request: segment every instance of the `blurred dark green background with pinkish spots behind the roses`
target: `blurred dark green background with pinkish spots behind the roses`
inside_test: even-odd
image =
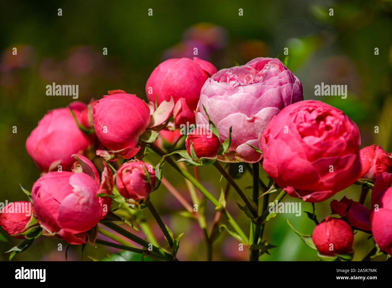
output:
[[[62,16],[58,16],[58,8]],[[148,16],[152,8],[153,16]],[[239,16],[239,9],[243,16]],[[329,9],[334,15],[329,16]],[[301,80],[305,99],[322,100],[343,110],[361,131],[362,145],[373,143],[392,152],[392,2],[390,0],[348,1],[9,1],[0,17],[0,201],[24,200],[19,184],[30,190],[40,171],[25,150],[25,140],[47,110],[64,107],[71,96],[46,96],[45,86],[79,85],[79,101],[99,99],[107,90],[123,89],[146,100],[145,83],[160,62],[173,57],[210,60],[218,69],[244,64],[258,56],[284,61]],[[17,56],[12,48],[18,50]],[[103,55],[106,47],[108,55]],[[375,55],[374,49],[379,49]],[[315,96],[314,86],[343,84],[347,99]],[[224,108],[222,108],[224,109]],[[17,133],[12,132],[13,126]],[[379,133],[374,133],[374,127]],[[151,163],[158,158],[147,156]],[[226,183],[214,167],[201,167],[200,178],[216,197]],[[169,165],[163,170],[169,181],[189,198],[183,179]],[[267,181],[264,172],[261,172]],[[251,195],[252,179],[243,173],[238,184]],[[332,199],[344,195],[359,199],[360,186],[353,185]],[[270,196],[273,199],[276,195]],[[181,205],[163,185],[151,199],[175,235],[185,232],[180,243],[180,260],[205,260],[206,248],[197,221],[181,216]],[[249,233],[249,219],[230,190],[227,209]],[[285,197],[285,201],[299,201]],[[321,220],[330,214],[330,201],[316,203]],[[303,211],[311,211],[310,203]],[[365,203],[369,205],[369,197]],[[211,229],[215,211],[207,205]],[[158,225],[145,213],[158,241],[163,245]],[[305,213],[278,214],[266,225],[265,239],[278,248],[263,255],[263,261],[317,260],[309,248],[287,225],[311,234],[314,223]],[[225,219],[223,219],[223,223]],[[0,233],[5,235],[3,231]],[[141,237],[144,237],[142,232]],[[8,260],[6,250],[19,240],[5,235],[0,242],[0,260]],[[355,236],[354,260],[361,260],[372,248],[368,234]],[[63,251],[58,251],[62,243]],[[40,237],[15,260],[65,260],[66,243]],[[104,259],[117,252],[103,246],[87,245],[83,260]],[[131,255],[133,256],[133,255]],[[80,260],[80,246],[71,246],[68,259]],[[113,257],[112,257],[113,258]],[[126,257],[125,257],[126,258]],[[114,258],[113,258],[114,259]],[[222,232],[213,247],[214,260],[247,260],[248,251],[238,251],[238,242]]]

